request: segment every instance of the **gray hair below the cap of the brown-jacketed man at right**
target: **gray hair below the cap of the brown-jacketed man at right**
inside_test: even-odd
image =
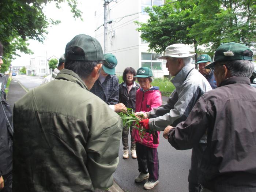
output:
[[[230,75],[236,77],[250,78],[254,69],[253,62],[249,60],[220,61],[218,63],[225,65]]]

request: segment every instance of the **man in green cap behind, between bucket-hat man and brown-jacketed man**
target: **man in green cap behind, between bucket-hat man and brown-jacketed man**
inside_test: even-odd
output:
[[[214,78],[213,70],[205,68],[212,62],[211,57],[208,54],[202,54],[197,58],[197,63],[199,67],[199,72],[207,79],[210,83],[211,88],[215,89],[217,87]]]

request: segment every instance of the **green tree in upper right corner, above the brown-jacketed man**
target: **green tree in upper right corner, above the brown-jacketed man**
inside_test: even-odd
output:
[[[197,42],[206,45],[209,51],[227,42],[255,48],[256,1],[203,0],[194,6],[192,16],[199,22],[188,29],[189,36],[196,37]]]

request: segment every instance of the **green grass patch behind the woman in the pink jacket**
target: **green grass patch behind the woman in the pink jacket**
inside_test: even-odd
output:
[[[123,82],[123,76],[117,76],[119,79],[119,83]],[[153,86],[159,87],[160,92],[162,95],[169,97],[170,94],[173,92],[175,89],[174,85],[172,82],[169,81],[168,78],[156,78],[152,82]]]

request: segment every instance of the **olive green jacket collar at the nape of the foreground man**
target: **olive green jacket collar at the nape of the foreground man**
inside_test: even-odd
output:
[[[86,84],[83,82],[83,80],[76,74],[74,71],[71,71],[69,69],[62,69],[55,79],[64,79],[71,82],[74,82],[76,84],[79,84],[82,88],[88,90]]]

